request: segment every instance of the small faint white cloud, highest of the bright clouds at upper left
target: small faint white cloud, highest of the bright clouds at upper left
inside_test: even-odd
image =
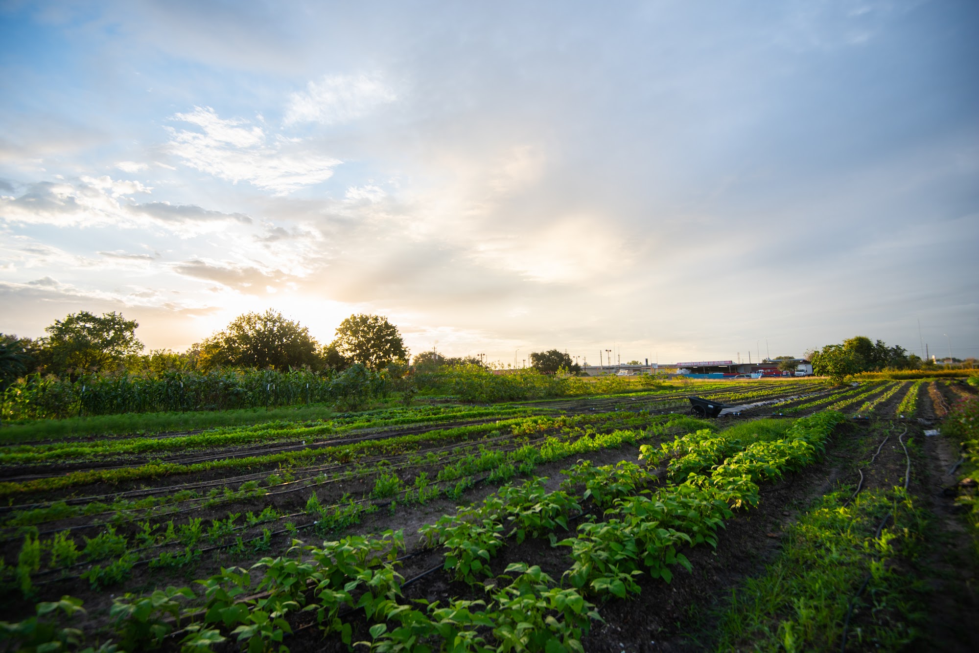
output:
[[[293,93],[286,108],[286,124],[350,122],[397,96],[381,79],[359,75],[326,75],[310,81],[304,92]]]

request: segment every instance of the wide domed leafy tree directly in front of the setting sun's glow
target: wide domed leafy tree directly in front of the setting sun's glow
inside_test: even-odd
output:
[[[309,330],[278,311],[246,313],[200,344],[198,365],[211,368],[289,368],[314,366],[318,343]]]

